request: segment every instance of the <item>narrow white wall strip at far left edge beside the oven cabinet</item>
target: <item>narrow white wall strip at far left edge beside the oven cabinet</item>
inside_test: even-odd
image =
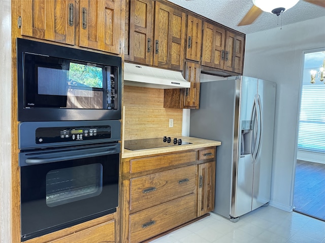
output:
[[[0,0],[0,242],[11,240],[11,2]]]

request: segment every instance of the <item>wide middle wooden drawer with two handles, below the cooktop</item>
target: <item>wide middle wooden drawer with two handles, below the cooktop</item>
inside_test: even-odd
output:
[[[196,166],[131,179],[130,211],[138,212],[193,193]]]

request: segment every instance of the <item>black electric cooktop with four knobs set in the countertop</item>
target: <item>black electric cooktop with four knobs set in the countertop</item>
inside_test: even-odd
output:
[[[191,143],[182,141],[181,139],[178,138],[171,138],[171,137],[146,138],[146,139],[125,140],[124,148],[129,150],[139,150],[139,149],[148,149],[148,148],[179,146],[185,144],[191,144]]]

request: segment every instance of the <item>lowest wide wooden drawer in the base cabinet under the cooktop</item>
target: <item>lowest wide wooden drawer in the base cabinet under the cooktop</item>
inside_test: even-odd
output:
[[[196,218],[194,193],[130,215],[130,242],[140,242]]]

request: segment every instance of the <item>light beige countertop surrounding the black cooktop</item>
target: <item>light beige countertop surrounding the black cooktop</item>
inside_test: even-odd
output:
[[[221,145],[220,141],[214,141],[214,140],[208,140],[202,138],[192,138],[192,137],[183,137],[183,136],[177,138],[181,138],[182,141],[189,142],[191,144],[184,144],[181,146],[161,147],[161,148],[140,149],[140,150],[122,149],[122,158],[129,158],[129,157],[150,155],[150,154],[157,154],[157,153],[168,153],[168,152],[183,151],[188,149]]]

